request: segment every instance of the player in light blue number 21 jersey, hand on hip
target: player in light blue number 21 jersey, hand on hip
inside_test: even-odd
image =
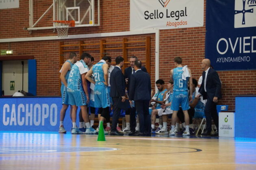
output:
[[[102,108],[100,122],[109,116],[110,94],[108,93],[108,62],[111,62],[109,56],[104,56],[100,62],[95,64],[86,74],[86,79],[95,84],[94,87],[94,105]],[[94,80],[91,78],[94,76]],[[100,126],[100,123],[99,123]]]

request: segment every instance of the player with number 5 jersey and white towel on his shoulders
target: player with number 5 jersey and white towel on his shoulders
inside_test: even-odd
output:
[[[91,134],[95,133],[95,130],[91,127],[89,123],[89,117],[87,114],[87,104],[89,103],[89,94],[87,89],[87,83],[85,79],[85,74],[88,72],[88,66],[84,62],[76,62],[72,66],[69,78],[67,81],[67,92],[69,94],[69,104],[72,104],[72,134],[81,134],[82,132],[78,130],[76,126],[76,112],[77,106],[80,106],[82,111],[82,118],[85,121],[87,127],[85,133]],[[85,96],[86,95],[86,96]]]

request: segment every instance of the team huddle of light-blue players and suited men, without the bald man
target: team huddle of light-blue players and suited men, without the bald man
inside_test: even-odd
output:
[[[99,127],[96,130],[92,127],[96,108],[98,108],[99,126],[101,121],[106,121],[105,134],[111,132],[110,135],[119,136],[124,133],[130,136],[150,136],[151,133],[156,133],[189,136],[195,133],[192,124],[195,108],[204,107],[205,102],[198,95],[199,88],[197,81],[192,79],[191,70],[187,66],[182,66],[180,57],[174,59],[176,68],[170,72],[171,79],[167,82],[167,89],[164,88],[165,82],[159,79],[156,81],[158,91],[155,94],[151,90],[150,76],[146,68],[141,66],[141,62],[135,56],[130,57],[130,67],[125,69],[124,75],[121,72],[124,58],[120,56],[115,58],[115,67],[111,65],[109,56],[104,56],[94,65],[94,58],[89,53],[83,53],[80,58],[81,60],[78,61],[76,53],[70,53],[69,59],[60,70],[63,104],[60,133],[66,132],[63,120],[69,105],[72,134],[99,132]],[[137,80],[136,77],[139,76],[143,80]],[[140,83],[145,86],[144,94],[136,91]],[[150,95],[147,95],[148,93]],[[130,107],[124,110],[126,127],[123,130],[118,126],[121,112],[118,106],[119,98],[121,102],[125,103],[126,98],[130,102]],[[79,128],[76,125],[78,106],[80,106]],[[110,126],[111,106],[114,110],[112,127]],[[137,121],[136,113],[138,113]],[[155,129],[156,115],[159,116],[157,129]],[[167,128],[169,115],[171,115],[170,130]],[[182,130],[180,123],[183,126]]]

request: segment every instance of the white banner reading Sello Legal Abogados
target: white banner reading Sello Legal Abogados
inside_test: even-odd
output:
[[[204,0],[130,0],[130,30],[204,25]]]

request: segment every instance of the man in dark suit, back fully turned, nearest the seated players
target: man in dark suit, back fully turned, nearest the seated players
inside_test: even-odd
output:
[[[135,108],[139,115],[140,132],[135,136],[150,136],[151,121],[149,115],[149,102],[151,100],[150,75],[141,70],[141,62],[135,61],[135,73],[131,75],[129,100],[135,101]]]

